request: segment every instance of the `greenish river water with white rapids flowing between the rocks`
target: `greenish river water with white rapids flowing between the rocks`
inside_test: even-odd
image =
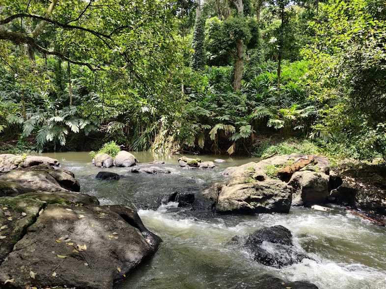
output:
[[[331,213],[293,207],[289,214],[222,216],[176,208],[175,203],[155,208],[157,198],[183,187],[207,188],[222,181],[223,169],[256,159],[222,158],[215,169],[182,169],[178,156],[135,153],[139,165],[163,160],[170,174],[148,175],[125,168],[100,169],[85,152],[44,154],[60,161],[101,204],[125,204],[138,209],[145,226],[163,239],[155,256],[140,265],[116,289],[230,289],[270,274],[289,281],[306,280],[319,289],[386,289],[386,229],[341,207]],[[202,160],[218,157],[199,156]],[[117,181],[95,179],[101,170],[122,175]],[[291,230],[298,251],[307,259],[276,269],[252,261],[242,244],[231,242],[264,226]],[[242,239],[241,238],[241,239]],[[269,248],[268,248],[269,249]]]

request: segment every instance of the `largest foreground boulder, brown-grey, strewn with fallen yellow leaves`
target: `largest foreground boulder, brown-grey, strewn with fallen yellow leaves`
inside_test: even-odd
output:
[[[7,283],[9,288],[65,284],[111,289],[114,281],[151,257],[161,242],[138,220],[137,213],[124,206],[49,205],[0,265],[0,283],[14,279]]]

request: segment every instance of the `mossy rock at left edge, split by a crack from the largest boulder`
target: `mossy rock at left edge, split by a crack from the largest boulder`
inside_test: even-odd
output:
[[[0,197],[0,264],[23,238],[44,205],[29,198]]]

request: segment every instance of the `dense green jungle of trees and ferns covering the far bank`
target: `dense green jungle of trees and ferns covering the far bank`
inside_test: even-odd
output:
[[[386,157],[385,0],[0,0],[0,43],[20,147]]]

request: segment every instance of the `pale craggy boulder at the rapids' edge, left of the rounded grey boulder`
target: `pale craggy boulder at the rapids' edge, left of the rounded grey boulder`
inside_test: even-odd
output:
[[[280,180],[267,179],[228,184],[221,188],[218,213],[288,213],[292,202],[292,187]]]

